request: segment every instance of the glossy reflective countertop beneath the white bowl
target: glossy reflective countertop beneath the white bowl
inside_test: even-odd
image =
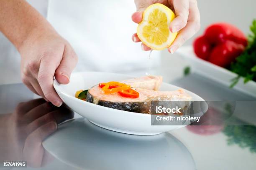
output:
[[[171,83],[208,101],[256,104],[255,98],[197,74]],[[244,115],[237,117],[243,125],[128,135],[100,128],[67,106],[35,99],[23,84],[0,85],[0,163],[26,161],[23,169],[29,170],[255,170],[256,116]]]

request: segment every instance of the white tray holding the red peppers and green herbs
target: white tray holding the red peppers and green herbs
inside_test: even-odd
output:
[[[230,86],[231,80],[237,77],[236,73],[198,58],[195,55],[192,46],[180,47],[179,50],[177,50],[177,53],[190,63],[192,71],[195,71],[204,77],[210,78],[211,80],[217,81],[222,85]],[[239,82],[233,88],[256,97],[256,82],[254,81],[249,81],[244,84],[243,78],[240,78]]]

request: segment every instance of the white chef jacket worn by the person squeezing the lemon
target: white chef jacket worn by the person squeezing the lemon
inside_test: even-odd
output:
[[[133,0],[28,0],[46,16],[57,32],[74,48],[79,61],[74,71],[134,72],[159,65],[159,51],[141,50],[131,35],[137,24]],[[20,56],[0,35],[0,83],[20,81]],[[2,43],[1,43],[2,44]],[[8,47],[6,47],[8,46]],[[5,51],[5,52],[2,52]],[[1,55],[0,54],[0,55]],[[6,72],[10,74],[6,75]]]

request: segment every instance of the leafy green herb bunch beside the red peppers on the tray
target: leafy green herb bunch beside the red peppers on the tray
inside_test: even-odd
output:
[[[250,27],[252,34],[248,35],[248,46],[246,50],[231,64],[230,70],[238,74],[232,81],[230,87],[234,87],[240,77],[244,77],[244,83],[256,81],[256,20]]]

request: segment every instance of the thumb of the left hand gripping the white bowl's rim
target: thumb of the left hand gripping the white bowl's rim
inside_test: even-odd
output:
[[[68,84],[71,72],[77,65],[77,55],[72,47],[67,44],[65,45],[62,60],[59,67],[55,71],[55,78],[61,84]]]

